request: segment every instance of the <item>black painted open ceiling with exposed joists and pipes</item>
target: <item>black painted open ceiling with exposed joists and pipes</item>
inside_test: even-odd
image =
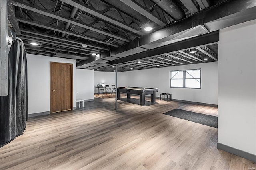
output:
[[[194,21],[187,25],[191,29],[179,32],[176,23],[217,8],[223,2],[226,1],[8,0],[8,19],[24,41],[27,53],[76,59],[77,68],[113,72],[111,61],[210,33],[210,27],[203,23],[193,25]],[[172,34],[169,25],[174,25],[177,33]],[[146,26],[153,30],[144,31]],[[157,33],[161,33],[161,39],[154,39]],[[124,62],[118,71],[212,61],[218,61],[217,42]]]

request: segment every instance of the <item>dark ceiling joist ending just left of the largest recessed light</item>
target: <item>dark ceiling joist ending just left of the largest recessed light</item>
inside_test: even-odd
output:
[[[130,25],[126,24],[126,23],[123,23],[123,22],[120,22],[118,20],[116,20],[115,18],[112,18],[106,14],[104,14],[103,12],[100,12],[100,11],[97,11],[93,8],[91,8],[90,6],[86,6],[85,4],[79,2],[79,1],[74,1],[74,0],[62,0],[63,2],[65,2],[66,4],[69,4],[71,6],[75,6],[76,8],[80,9],[80,10],[83,10],[89,14],[92,14],[93,16],[96,16],[102,20],[105,20],[107,22],[110,22],[114,25],[117,25],[118,27],[122,27],[128,31],[131,31],[133,33],[136,33],[140,36],[144,35],[144,33],[134,29],[133,27],[131,27]],[[124,40],[123,40],[124,41]],[[128,42],[128,41],[126,41]]]

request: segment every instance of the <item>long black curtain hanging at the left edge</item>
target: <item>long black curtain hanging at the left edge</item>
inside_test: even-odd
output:
[[[8,96],[0,96],[0,145],[24,132],[28,120],[27,59],[15,40],[8,55]]]

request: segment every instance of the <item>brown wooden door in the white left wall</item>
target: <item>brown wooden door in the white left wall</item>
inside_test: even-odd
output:
[[[50,62],[50,112],[73,108],[73,64]]]

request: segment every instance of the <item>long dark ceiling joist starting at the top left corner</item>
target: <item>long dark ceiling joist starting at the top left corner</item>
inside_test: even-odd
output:
[[[82,27],[84,29],[90,29],[90,30],[95,31],[97,33],[101,33],[101,34],[104,34],[104,35],[107,35],[107,36],[110,36],[110,37],[113,37],[113,38],[116,38],[116,39],[120,39],[120,40],[125,41],[125,42],[130,41],[130,40],[124,38],[124,37],[120,37],[116,34],[104,31],[102,29],[98,29],[96,27],[92,27],[92,26],[90,26],[86,23],[81,23],[80,21],[73,20],[71,18],[61,16],[60,14],[56,14],[54,12],[50,12],[50,11],[44,10],[42,8],[40,9],[39,7],[34,8],[34,6],[32,6],[30,4],[23,4],[21,2],[16,2],[16,1],[11,1],[11,4],[14,5],[14,6],[18,6],[20,8],[24,8],[26,10],[30,10],[32,12],[36,12],[38,14],[42,14],[44,16],[48,16],[48,17],[55,18],[55,19],[58,19],[58,20],[61,20],[61,21],[64,21],[64,22],[72,23],[72,24],[77,25],[79,27]]]

